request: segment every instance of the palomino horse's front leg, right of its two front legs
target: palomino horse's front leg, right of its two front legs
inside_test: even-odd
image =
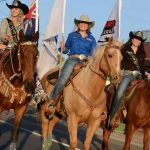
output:
[[[100,121],[101,119],[99,118],[97,120],[91,120],[90,123],[88,123],[88,127],[86,130],[86,139],[84,142],[84,150],[90,149],[92,138],[99,127]]]

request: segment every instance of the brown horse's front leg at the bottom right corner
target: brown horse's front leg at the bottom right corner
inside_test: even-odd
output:
[[[143,150],[149,150],[150,146],[150,128],[144,127]]]

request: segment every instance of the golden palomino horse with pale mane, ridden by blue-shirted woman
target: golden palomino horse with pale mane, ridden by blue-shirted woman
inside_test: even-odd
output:
[[[72,84],[67,85],[63,90],[71,150],[77,146],[79,123],[87,124],[84,149],[90,149],[92,137],[99,127],[106,108],[105,79],[107,77],[113,80],[120,79],[121,45],[120,42],[110,40],[107,45],[97,47],[88,65],[73,78]],[[49,94],[52,86],[47,84],[46,77],[43,78],[42,83]],[[41,107],[43,149],[48,149],[50,146],[48,140],[59,118],[53,117],[48,121],[44,115],[47,108],[46,104],[44,105]]]

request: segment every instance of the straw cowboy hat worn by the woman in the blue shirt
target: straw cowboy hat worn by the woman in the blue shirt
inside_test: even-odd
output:
[[[76,26],[78,26],[78,24],[81,23],[81,22],[88,23],[89,24],[89,29],[92,28],[95,24],[94,21],[90,21],[90,18],[87,15],[81,15],[80,19],[74,19],[74,23],[75,23]]]

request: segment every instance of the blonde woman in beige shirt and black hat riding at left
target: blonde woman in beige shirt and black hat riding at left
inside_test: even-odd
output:
[[[7,3],[6,5],[11,10],[11,15],[3,19],[0,25],[0,69],[2,69],[3,57],[6,55],[5,49],[18,44],[19,31],[23,29],[24,15],[29,11],[28,6],[18,0],[14,0],[12,5]]]

